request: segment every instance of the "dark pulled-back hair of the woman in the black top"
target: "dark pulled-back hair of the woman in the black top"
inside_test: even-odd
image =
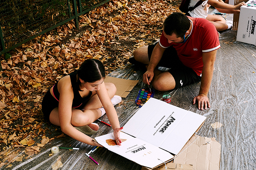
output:
[[[101,78],[105,78],[105,68],[100,60],[87,59],[85,60],[77,71],[78,81],[77,85],[81,84],[79,77],[84,82],[93,83]],[[79,88],[80,89],[80,88]]]

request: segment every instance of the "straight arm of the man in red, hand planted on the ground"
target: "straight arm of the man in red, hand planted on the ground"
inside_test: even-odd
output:
[[[203,108],[207,109],[207,106],[210,108],[209,98],[207,97],[211,81],[213,75],[214,62],[216,58],[217,50],[210,52],[203,52],[202,60],[203,60],[203,70],[201,77],[201,86],[198,96],[194,97],[193,105],[198,102],[198,109],[203,110]],[[203,107],[204,106],[204,107]]]

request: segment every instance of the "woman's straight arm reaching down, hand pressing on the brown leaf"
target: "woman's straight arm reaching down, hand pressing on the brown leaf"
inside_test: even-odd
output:
[[[116,109],[114,108],[114,106],[109,98],[109,95],[108,95],[108,92],[107,92],[104,82],[101,84],[100,90],[97,90],[96,93],[101,100],[101,103],[106,111],[108,120],[112,126],[112,129],[114,130],[114,136],[115,136],[116,143],[119,146],[121,146],[120,131],[123,129],[123,127],[120,128]]]

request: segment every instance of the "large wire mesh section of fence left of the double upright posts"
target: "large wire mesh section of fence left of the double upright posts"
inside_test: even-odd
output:
[[[69,18],[67,0],[9,0],[0,3],[5,48]]]

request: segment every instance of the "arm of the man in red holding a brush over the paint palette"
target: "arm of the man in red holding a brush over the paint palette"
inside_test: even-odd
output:
[[[143,83],[149,85],[150,82],[152,81],[152,79],[154,77],[154,69],[156,68],[156,65],[161,60],[164,51],[165,51],[165,48],[162,48],[159,45],[159,43],[154,47],[151,57],[150,57],[147,71],[143,74]]]

